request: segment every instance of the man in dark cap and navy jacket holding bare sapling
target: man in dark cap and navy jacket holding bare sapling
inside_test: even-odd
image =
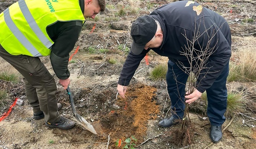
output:
[[[175,120],[183,118],[185,103],[194,102],[206,91],[207,116],[211,122],[210,138],[217,143],[222,138],[221,126],[225,122],[224,113],[227,109],[230,28],[225,19],[214,11],[203,8],[201,14],[196,14],[193,6],[199,4],[194,2],[185,6],[187,3],[188,1],[180,1],[161,6],[133,22],[131,51],[123,65],[117,90],[125,98],[127,86],[149,50],[168,57],[166,82],[173,113],[161,120],[159,126],[166,128],[176,124]],[[205,67],[200,71],[196,89],[185,96],[185,84],[189,76],[185,71],[190,67],[190,57],[182,52],[187,52],[184,49],[191,47],[190,42],[193,42],[196,34],[199,36],[193,44],[193,55],[202,50],[211,49],[212,52],[207,57]],[[196,60],[192,62],[193,68],[196,68],[194,62]]]

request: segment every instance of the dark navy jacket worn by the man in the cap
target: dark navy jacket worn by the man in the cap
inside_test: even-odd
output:
[[[198,3],[186,6],[188,1],[173,2],[154,10],[150,15],[154,17],[163,30],[164,40],[159,48],[151,48],[159,55],[166,56],[181,68],[190,67],[188,57],[182,52],[188,52],[186,48],[193,39],[194,49],[212,51],[206,62],[206,69],[201,70],[197,80],[197,89],[204,92],[212,86],[222,69],[229,62],[231,56],[231,34],[228,23],[219,14],[207,8],[199,16],[193,10]],[[197,35],[197,37],[196,37]],[[208,43],[209,48],[206,48]],[[196,51],[194,50],[194,51]],[[143,50],[140,55],[130,52],[123,65],[118,84],[127,86],[130,83],[139,63],[149,50]],[[197,54],[194,52],[193,54]],[[194,60],[193,66],[195,67]]]

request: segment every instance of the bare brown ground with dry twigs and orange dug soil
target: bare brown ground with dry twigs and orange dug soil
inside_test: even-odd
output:
[[[16,0],[0,0],[0,12]],[[26,101],[23,82],[12,83],[0,80],[0,89],[8,90],[9,98],[15,97],[24,100],[23,106],[15,106],[12,113],[0,122],[0,148],[3,149],[109,149],[115,147],[118,139],[124,141],[132,135],[138,139],[134,142],[138,149],[256,149],[256,90],[255,82],[228,82],[227,87],[234,92],[244,90],[243,102],[246,105],[245,113],[235,117],[227,117],[222,125],[224,130],[222,141],[211,144],[209,139],[209,120],[200,110],[202,102],[191,104],[190,119],[193,132],[190,132],[190,143],[177,143],[175,130],[160,128],[159,120],[170,115],[170,100],[167,95],[164,81],[151,81],[149,73],[159,63],[166,63],[167,58],[149,54],[149,65],[145,61],[137,69],[126,98],[117,95],[117,80],[126,57],[125,47],[130,47],[131,37],[129,30],[131,22],[138,16],[149,14],[152,10],[172,0],[151,1],[121,1],[109,0],[104,13],[99,14],[99,20],[88,20],[75,46],[79,51],[73,56],[69,64],[71,73],[70,88],[74,95],[77,113],[89,121],[97,131],[97,135],[76,124],[71,130],[50,129],[44,125],[44,120],[34,120],[32,108]],[[203,6],[217,11],[227,19],[232,30],[232,51],[251,49],[256,51],[256,2],[253,0],[210,0],[200,1]],[[125,8],[126,14],[118,16],[117,21],[107,21],[114,13],[118,13],[118,6]],[[138,9],[138,13],[131,13],[131,9]],[[254,23],[243,23],[242,19],[253,18]],[[92,27],[96,24],[95,30]],[[90,49],[109,49],[108,52],[92,52]],[[74,49],[74,51],[75,51]],[[73,53],[72,51],[71,53]],[[94,53],[94,54],[91,54]],[[234,54],[235,55],[235,54]],[[236,57],[232,57],[235,60]],[[117,63],[111,64],[110,59]],[[48,57],[42,57],[42,62],[58,82]],[[0,71],[17,73],[7,62],[0,59]],[[20,77],[21,78],[21,77]],[[63,108],[60,113],[70,119],[72,111],[65,90],[57,84],[56,94],[58,102]],[[11,103],[10,103],[11,104]],[[9,107],[2,108],[0,115]],[[196,112],[193,112],[196,111]],[[245,123],[246,122],[246,123]],[[148,141],[146,141],[149,139]],[[144,141],[146,143],[142,144]],[[139,146],[139,144],[142,144]],[[124,144],[122,144],[123,146]]]

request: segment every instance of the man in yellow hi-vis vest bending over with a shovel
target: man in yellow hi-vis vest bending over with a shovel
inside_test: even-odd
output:
[[[85,18],[105,10],[105,0],[19,0],[0,14],[0,56],[23,75],[34,119],[69,129],[75,122],[60,116],[53,76],[39,59],[50,55],[60,84],[67,89],[69,52],[75,46]]]

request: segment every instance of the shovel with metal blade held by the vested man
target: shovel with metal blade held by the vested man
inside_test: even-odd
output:
[[[94,133],[94,134],[97,134],[95,129],[92,127],[92,125],[87,122],[83,117],[81,117],[79,114],[76,113],[76,108],[75,108],[75,103],[74,103],[74,100],[73,100],[73,95],[72,95],[72,92],[68,86],[68,88],[66,89],[66,91],[68,92],[68,96],[69,96],[69,99],[70,99],[70,104],[71,104],[71,108],[72,108],[72,111],[73,111],[73,115],[75,117],[75,119],[83,126],[85,127],[87,130],[89,130],[90,132]]]

